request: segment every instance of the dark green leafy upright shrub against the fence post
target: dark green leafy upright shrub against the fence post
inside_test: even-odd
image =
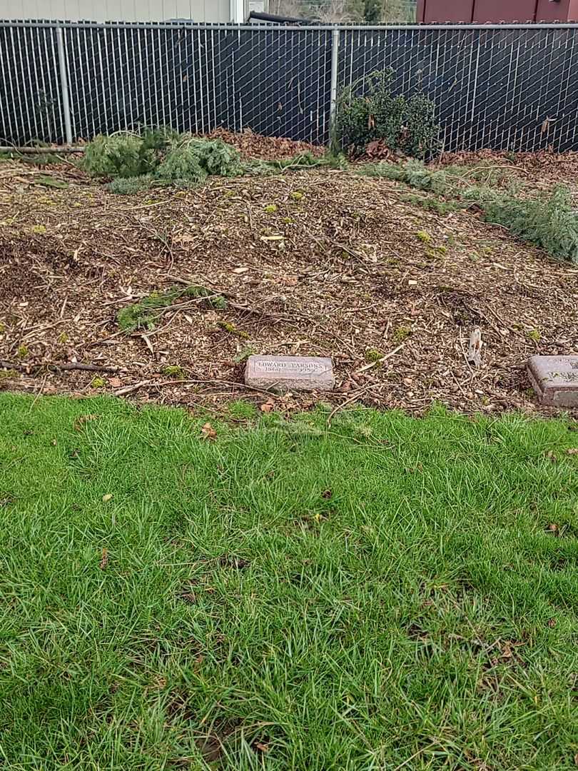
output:
[[[385,140],[390,150],[412,157],[433,157],[440,150],[435,105],[425,94],[391,93],[392,69],[371,72],[343,89],[338,99],[334,140],[353,155],[368,143]],[[361,87],[364,93],[359,93]]]

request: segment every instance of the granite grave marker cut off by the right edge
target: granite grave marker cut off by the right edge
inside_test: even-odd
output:
[[[532,356],[528,375],[540,404],[578,407],[578,356]]]

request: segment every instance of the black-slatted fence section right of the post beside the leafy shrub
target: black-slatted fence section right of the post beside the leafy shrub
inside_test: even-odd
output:
[[[349,30],[338,82],[391,67],[396,91],[434,100],[445,150],[576,150],[575,40],[536,26]]]

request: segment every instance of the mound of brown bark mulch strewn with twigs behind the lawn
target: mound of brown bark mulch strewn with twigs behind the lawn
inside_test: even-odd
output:
[[[237,138],[251,157],[279,157],[279,141]],[[70,164],[2,163],[0,388],[210,409],[243,397],[265,409],[323,399],[548,412],[524,367],[578,350],[578,271],[471,211],[440,217],[407,193],[315,169],[122,197]],[[227,307],[180,298],[155,328],[119,329],[122,308],[187,284]],[[479,368],[465,356],[476,326]],[[336,390],[251,391],[250,353],[332,356]]]

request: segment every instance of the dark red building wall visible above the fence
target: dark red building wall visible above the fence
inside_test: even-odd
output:
[[[578,0],[418,0],[418,22],[578,21]]]

